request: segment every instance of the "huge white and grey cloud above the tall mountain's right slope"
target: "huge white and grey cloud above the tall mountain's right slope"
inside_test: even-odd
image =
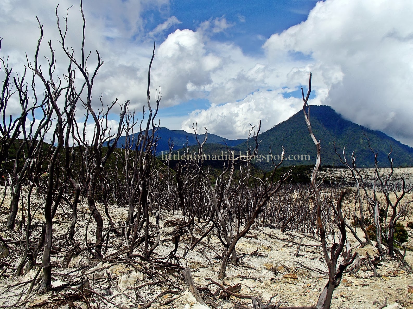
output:
[[[323,103],[344,117],[413,145],[413,3],[318,2],[307,20],[264,44],[269,59],[311,55],[314,76],[332,77]]]

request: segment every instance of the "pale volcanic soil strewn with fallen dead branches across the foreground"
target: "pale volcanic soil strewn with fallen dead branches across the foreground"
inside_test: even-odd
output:
[[[0,201],[3,196],[4,187],[0,187]],[[189,292],[183,281],[183,276],[179,271],[168,270],[167,267],[159,264],[150,264],[138,257],[134,257],[132,262],[116,259],[104,262],[91,260],[89,267],[81,267],[81,261],[86,257],[75,255],[69,263],[68,268],[62,268],[62,262],[67,248],[73,242],[67,239],[69,225],[71,221],[71,210],[69,206],[62,204],[53,219],[53,245],[52,255],[52,287],[55,291],[50,291],[44,295],[38,295],[36,288],[40,284],[36,281],[33,285],[33,292],[28,293],[28,289],[38,272],[38,267],[32,269],[24,276],[14,276],[12,269],[16,269],[24,251],[24,228],[18,226],[13,231],[8,231],[5,227],[7,220],[9,194],[6,194],[4,203],[0,208],[0,235],[11,248],[10,255],[2,256],[0,251],[0,308],[14,306],[18,304],[22,308],[144,308],[142,302],[152,301],[157,295],[166,291],[177,291],[176,293],[165,293],[157,297],[150,306],[151,308],[205,308],[197,304],[195,298]],[[33,225],[34,239],[36,233],[40,234],[43,219],[42,197],[32,197],[32,213],[36,211]],[[83,248],[85,243],[85,227],[90,217],[90,212],[85,203],[79,205],[78,225],[76,226],[76,240],[81,242]],[[104,216],[104,207],[98,205],[98,209],[104,217],[104,227],[108,226],[108,220]],[[111,206],[109,214],[112,216],[115,225],[126,219],[127,208]],[[21,208],[19,209],[18,220],[21,218]],[[152,258],[162,260],[174,248],[171,241],[171,234],[174,227],[164,227],[167,220],[181,219],[180,213],[172,211],[161,211],[161,221],[159,229],[161,232],[159,246],[155,249]],[[150,218],[155,222],[155,217]],[[408,220],[401,221],[405,226]],[[207,227],[195,227],[194,236],[199,238]],[[413,247],[413,231],[408,229],[409,239],[406,246]],[[359,229],[358,229],[359,232]],[[348,239],[352,247],[358,243],[348,232]],[[124,237],[117,237],[109,234],[108,249],[105,256],[108,256],[126,246]],[[298,243],[304,236],[299,255],[297,251]],[[363,234],[360,234],[363,236]],[[88,240],[95,240],[95,225],[91,220],[88,229]],[[35,242],[35,241],[33,241]],[[0,243],[1,244],[1,243]],[[185,247],[192,245],[191,236],[184,235],[180,240],[177,252],[178,257],[182,257]],[[222,245],[218,238],[212,234],[205,237],[194,250],[189,251],[185,258],[178,258],[181,267],[188,266],[192,272],[192,278],[196,286],[209,288],[201,294],[210,308],[243,308],[239,304],[244,304],[252,308],[249,299],[218,298],[220,289],[207,281],[211,278],[218,281],[225,287],[234,286],[240,283],[240,295],[258,296],[267,303],[271,297],[271,304],[280,301],[281,307],[286,306],[312,306],[316,304],[321,290],[327,282],[327,266],[325,264],[320,242],[309,236],[295,232],[281,233],[279,229],[255,226],[248,233],[247,238],[241,239],[236,247],[240,257],[238,265],[228,265],[226,277],[218,281],[218,269],[221,265]],[[372,257],[377,255],[377,250],[372,246],[354,249],[361,261],[366,258],[366,252]],[[126,255],[121,255],[125,257]],[[41,262],[41,253],[38,257]],[[176,264],[176,260],[171,262]],[[413,252],[406,252],[406,262],[413,265]],[[145,285],[153,282],[144,270],[160,272],[166,279],[166,283],[157,285]],[[332,306],[335,309],[364,309],[364,308],[413,308],[413,272],[406,267],[400,267],[396,260],[388,257],[380,263],[377,269],[377,279],[373,279],[373,272],[362,264],[357,270],[343,275],[341,284],[335,289]],[[41,272],[38,278],[41,277]],[[102,297],[83,290],[83,295],[79,296],[81,287],[94,290]],[[60,287],[60,289],[59,289]],[[137,288],[138,287],[138,288]],[[141,305],[137,305],[137,304]],[[385,305],[387,304],[387,306]],[[245,307],[244,307],[245,308]]]

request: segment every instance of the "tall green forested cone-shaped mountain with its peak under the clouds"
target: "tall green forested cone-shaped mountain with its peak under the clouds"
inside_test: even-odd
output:
[[[374,167],[374,155],[368,147],[366,136],[370,139],[373,150],[378,153],[379,167],[389,167],[387,155],[390,152],[390,146],[393,150],[391,157],[394,159],[394,167],[413,166],[412,147],[400,143],[383,132],[373,131],[344,119],[330,106],[311,105],[310,120],[314,135],[321,141],[322,166],[341,166],[334,152],[335,142],[340,155],[343,153],[343,147],[346,147],[347,162],[350,164],[351,153],[355,150],[356,166]],[[285,165],[314,164],[316,161],[316,146],[309,136],[302,110],[272,129],[261,133],[259,140],[261,140],[259,155],[267,155],[271,146],[275,159],[277,159],[276,155],[281,155],[281,146],[284,146]],[[237,145],[236,149],[242,151],[246,147],[247,144],[244,142]],[[261,158],[261,162],[258,162],[259,160],[256,160],[259,167],[264,170],[271,169],[272,164],[266,162],[267,157],[265,160]]]

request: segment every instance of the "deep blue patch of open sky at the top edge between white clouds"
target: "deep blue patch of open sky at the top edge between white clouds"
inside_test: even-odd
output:
[[[176,0],[171,2],[169,15],[176,16],[181,23],[170,30],[196,30],[203,21],[225,16],[234,26],[214,35],[214,40],[231,40],[246,54],[261,54],[264,40],[305,21],[314,5],[316,1],[306,0]],[[165,16],[158,10],[151,10],[150,18],[145,20],[145,30],[150,32]]]

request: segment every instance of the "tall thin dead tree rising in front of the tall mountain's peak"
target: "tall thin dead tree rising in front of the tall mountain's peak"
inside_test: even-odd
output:
[[[328,248],[326,232],[325,232],[325,228],[323,225],[322,214],[321,214],[321,195],[318,189],[318,185],[316,184],[316,175],[317,175],[318,168],[321,164],[321,156],[320,156],[321,145],[320,145],[320,141],[317,140],[316,137],[314,136],[313,130],[311,128],[310,106],[308,104],[308,100],[309,100],[310,93],[311,93],[311,73],[309,77],[309,89],[307,91],[307,95],[304,97],[304,89],[302,87],[301,87],[301,93],[302,93],[303,101],[304,101],[304,105],[303,105],[304,119],[306,121],[306,125],[309,130],[310,137],[313,140],[314,144],[316,145],[316,149],[317,149],[316,164],[314,166],[313,173],[311,174],[311,187],[313,188],[314,194],[316,195],[317,225],[318,225],[318,229],[320,230],[321,246],[323,248],[324,258],[325,258],[325,261],[328,267],[328,282],[325,285],[323,291],[321,292],[320,297],[318,298],[316,308],[317,309],[329,309],[331,305],[333,291],[335,288],[337,288],[337,286],[339,286],[344,270],[347,268],[347,266],[349,266],[354,261],[354,259],[356,258],[356,254],[351,255],[349,243],[347,243],[347,246],[346,246],[346,239],[347,239],[346,226],[345,226],[344,218],[341,212],[341,204],[344,199],[344,195],[346,194],[346,192],[344,191],[341,193],[340,198],[337,201],[336,209],[334,209],[335,220],[337,223],[337,227],[340,231],[339,243],[335,243],[334,242],[335,239],[333,238],[334,243],[332,244],[332,247],[330,248],[330,254],[328,252],[329,248]],[[337,267],[337,262],[339,260],[340,255],[342,255],[342,261],[339,263],[339,266]]]

